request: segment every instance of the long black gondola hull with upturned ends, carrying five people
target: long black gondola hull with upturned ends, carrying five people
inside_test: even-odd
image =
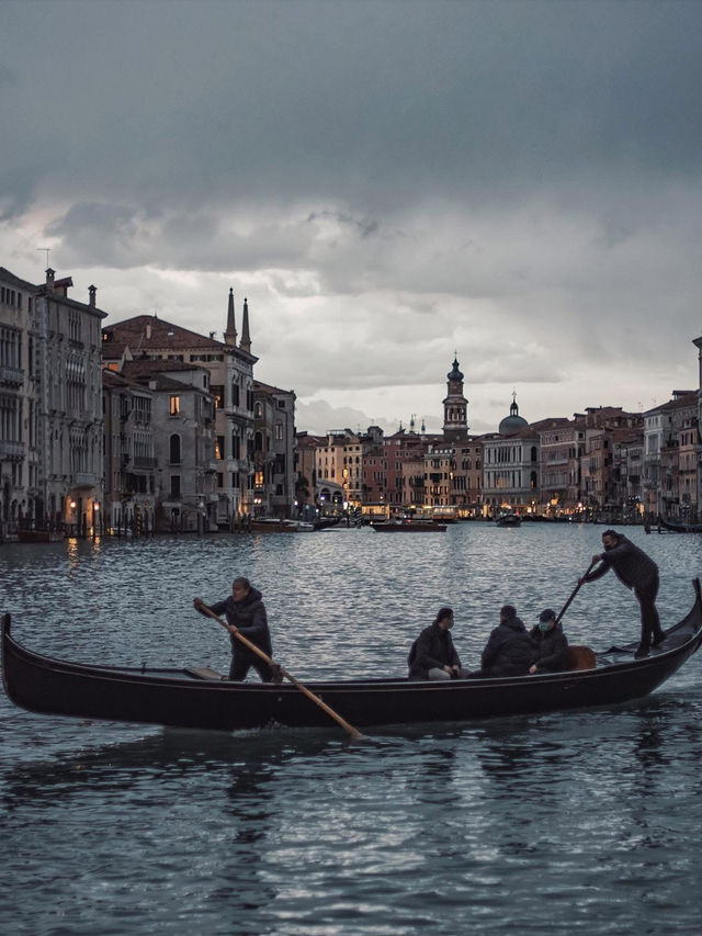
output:
[[[415,683],[407,678],[307,683],[356,728],[463,722],[528,712],[612,706],[647,696],[702,642],[702,597],[694,579],[690,612],[666,631],[649,656],[636,644],[596,654],[595,668],[534,676]],[[2,618],[2,681],[32,712],[80,719],[234,731],[333,726],[295,686],[230,683],[210,669],[91,666],[42,656],[19,644]]]

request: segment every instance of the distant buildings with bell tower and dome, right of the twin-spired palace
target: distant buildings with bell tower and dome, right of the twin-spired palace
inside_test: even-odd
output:
[[[702,339],[694,342],[702,347]],[[297,465],[320,499],[360,504],[370,514],[430,509],[455,517],[510,510],[534,516],[643,521],[698,517],[702,471],[700,394],[673,391],[646,413],[588,407],[573,418],[529,424],[516,397],[497,432],[471,435],[464,376],[454,360],[443,429],[414,421],[385,437],[298,433]]]

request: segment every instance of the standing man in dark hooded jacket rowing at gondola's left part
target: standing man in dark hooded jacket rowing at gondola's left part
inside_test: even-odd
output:
[[[215,614],[226,614],[228,631],[231,634],[229,679],[242,683],[251,667],[256,669],[263,683],[270,683],[273,679],[272,667],[235,636],[238,631],[268,656],[273,654],[265,606],[261,593],[251,586],[248,578],[235,578],[231,585],[231,595],[223,601],[205,605],[202,598],[194,598],[193,605],[201,614],[205,613],[203,608],[208,608]]]

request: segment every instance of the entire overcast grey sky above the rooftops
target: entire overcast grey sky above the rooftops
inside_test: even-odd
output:
[[[117,322],[248,296],[297,427],[699,385],[702,3],[0,0],[0,266]]]

